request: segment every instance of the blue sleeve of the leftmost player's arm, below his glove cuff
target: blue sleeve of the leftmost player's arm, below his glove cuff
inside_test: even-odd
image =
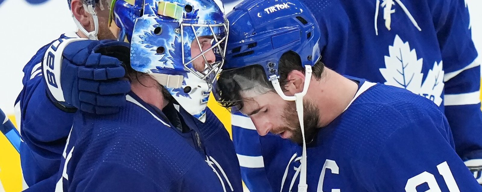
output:
[[[41,62],[50,44],[40,48],[24,67],[24,85],[17,97],[20,120],[20,159],[28,186],[52,177],[59,169],[60,156],[72,126],[73,111],[57,107],[46,92]]]

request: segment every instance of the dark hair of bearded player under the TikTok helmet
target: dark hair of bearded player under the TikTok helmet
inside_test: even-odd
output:
[[[278,68],[280,74],[280,86],[283,91],[286,91],[285,85],[288,83],[287,76],[293,70],[305,72],[304,66],[301,65],[300,56],[294,51],[288,51],[284,53],[280,58],[280,66]],[[321,74],[324,71],[325,65],[323,62],[318,61],[311,68],[312,76],[316,80],[320,80]],[[274,91],[271,82],[268,82],[268,78],[262,66],[250,65],[233,70],[226,70],[221,72],[216,84],[216,92],[218,95],[218,102],[225,108],[236,107],[237,109],[243,108],[241,91],[245,91],[235,76],[241,76],[251,82],[256,82],[257,86],[263,86]],[[254,87],[251,87],[254,88]]]

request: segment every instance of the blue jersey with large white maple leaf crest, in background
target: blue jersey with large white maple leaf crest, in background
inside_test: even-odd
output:
[[[481,69],[465,1],[340,2],[350,21],[348,38],[342,37],[344,44],[338,45],[346,47],[347,59],[332,62],[334,54],[328,54],[326,65],[345,75],[427,97],[444,111],[457,154],[465,160],[482,158],[482,138],[477,135],[482,131]],[[331,27],[324,26],[326,35],[337,33]]]

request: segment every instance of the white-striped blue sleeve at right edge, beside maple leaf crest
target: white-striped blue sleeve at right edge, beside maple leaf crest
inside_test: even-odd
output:
[[[434,11],[442,51],[445,115],[454,133],[456,151],[464,159],[482,158],[480,60],[471,36],[464,0],[443,0]]]

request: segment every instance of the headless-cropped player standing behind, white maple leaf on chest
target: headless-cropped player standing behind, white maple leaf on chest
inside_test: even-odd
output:
[[[336,72],[406,88],[434,101],[448,119],[457,154],[482,183],[480,60],[470,35],[467,4],[463,0],[302,1],[321,28],[323,63]],[[288,161],[292,155],[283,153],[296,144],[271,134],[259,137],[249,118],[239,112],[232,122],[248,188],[279,191],[283,173],[274,165]]]

